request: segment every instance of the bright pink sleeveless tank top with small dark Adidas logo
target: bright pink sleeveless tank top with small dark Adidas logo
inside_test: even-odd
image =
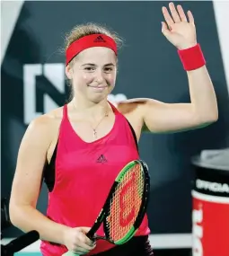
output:
[[[111,104],[110,104],[111,105]],[[137,146],[128,120],[112,106],[115,123],[110,132],[92,143],[75,133],[67,117],[67,106],[59,129],[55,185],[48,193],[47,216],[71,227],[92,226],[101,211],[118,172],[130,161],[138,159]],[[147,216],[136,235],[150,233]],[[97,234],[103,235],[101,225]],[[114,244],[98,240],[89,254],[104,252]],[[44,256],[62,255],[66,246],[42,241]]]

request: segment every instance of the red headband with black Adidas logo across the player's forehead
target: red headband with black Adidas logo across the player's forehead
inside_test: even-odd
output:
[[[117,45],[109,36],[103,34],[92,34],[75,40],[66,49],[66,66],[81,51],[92,47],[106,47],[112,49],[117,55]]]

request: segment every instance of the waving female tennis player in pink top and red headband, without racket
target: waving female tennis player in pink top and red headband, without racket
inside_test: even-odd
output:
[[[187,72],[190,103],[132,99],[112,105],[107,97],[117,76],[117,34],[90,23],[66,37],[66,76],[73,99],[31,121],[19,149],[10,200],[13,225],[24,232],[37,230],[43,255],[60,256],[68,250],[80,255],[153,255],[146,215],[135,237],[120,246],[93,243],[85,234],[117,173],[139,158],[142,131],[177,132],[217,119],[216,95],[193,15],[184,13],[181,5],[170,3],[169,9],[162,9],[162,32]],[[43,179],[48,186],[47,216],[36,209]],[[102,226],[98,234],[103,235]]]

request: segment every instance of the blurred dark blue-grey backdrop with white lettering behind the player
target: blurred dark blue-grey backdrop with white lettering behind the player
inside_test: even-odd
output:
[[[229,2],[174,3],[194,15],[198,42],[216,90],[219,119],[207,128],[176,134],[143,134],[140,139],[141,158],[148,163],[152,181],[148,208],[150,240],[155,255],[169,252],[170,256],[191,253],[191,190],[196,173],[192,157],[201,155],[203,150],[228,153],[229,147]],[[187,75],[177,50],[161,32],[162,6],[168,4],[166,1],[1,2],[2,199],[10,197],[18,148],[31,119],[68,101],[65,54],[61,49],[66,32],[76,24],[105,24],[125,40],[119,51],[119,75],[110,101],[151,97],[163,102],[189,102]],[[225,166],[229,166],[228,159],[223,160]],[[46,207],[47,188],[43,186],[38,208],[45,213]],[[4,241],[21,234],[13,226],[2,226]],[[39,244],[25,248],[20,255],[26,252],[35,255]]]

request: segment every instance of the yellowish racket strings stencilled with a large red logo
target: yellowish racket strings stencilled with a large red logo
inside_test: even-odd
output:
[[[140,164],[125,173],[113,194],[107,228],[110,239],[119,241],[134,225],[144,193],[144,176]]]

